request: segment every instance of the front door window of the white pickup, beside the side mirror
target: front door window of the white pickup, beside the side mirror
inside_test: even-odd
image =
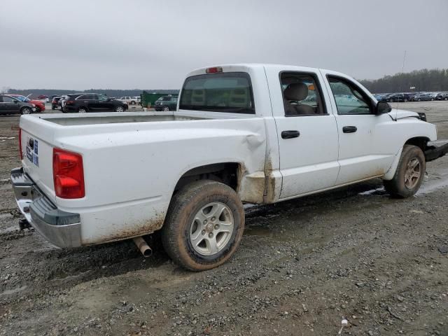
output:
[[[360,88],[344,78],[328,76],[337,114],[372,114],[370,99]]]

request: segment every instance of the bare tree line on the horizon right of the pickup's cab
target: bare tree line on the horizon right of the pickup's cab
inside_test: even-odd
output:
[[[372,93],[448,91],[448,69],[421,69],[359,82]]]

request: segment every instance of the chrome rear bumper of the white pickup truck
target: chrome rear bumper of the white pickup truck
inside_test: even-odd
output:
[[[59,247],[81,245],[79,214],[57,209],[23,168],[11,171],[11,183],[20,211],[41,236]]]

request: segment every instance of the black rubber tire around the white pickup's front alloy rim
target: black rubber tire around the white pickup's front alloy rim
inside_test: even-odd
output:
[[[405,184],[405,174],[407,167],[412,160],[418,160],[420,176],[412,187]],[[419,190],[426,172],[426,160],[421,148],[413,145],[405,145],[398,162],[398,167],[390,181],[383,181],[386,191],[395,198],[407,198],[415,195]]]

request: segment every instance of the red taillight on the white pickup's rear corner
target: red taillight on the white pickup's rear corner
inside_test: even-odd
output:
[[[78,153],[53,148],[53,181],[57,197],[83,198],[83,157]]]

